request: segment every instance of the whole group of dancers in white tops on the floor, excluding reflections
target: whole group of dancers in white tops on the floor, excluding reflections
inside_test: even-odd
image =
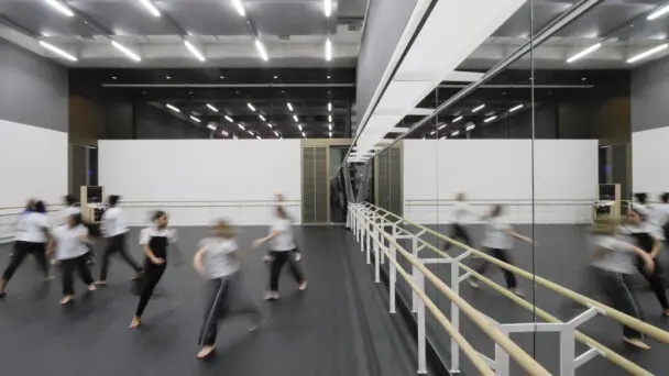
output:
[[[270,289],[265,300],[278,300],[278,281],[283,267],[289,264],[290,270],[298,284],[298,290],[307,288],[307,281],[300,266],[301,254],[295,244],[293,225],[285,208],[283,197],[279,195],[278,204],[267,236],[253,242],[254,247],[268,243],[268,254],[264,261],[271,263]],[[102,254],[100,278],[94,281],[91,276],[92,242],[95,226],[86,223],[81,217],[80,208],[76,207],[75,199],[65,198],[66,208],[62,210],[62,218],[55,226],[48,222],[46,206],[40,200],[30,200],[17,222],[15,241],[10,256],[9,265],[0,280],[0,298],[7,296],[7,286],[14,272],[22,264],[26,255],[32,255],[40,266],[45,281],[54,278],[48,263],[61,269],[63,297],[61,305],[68,305],[75,298],[74,273],[87,286],[88,291],[95,291],[96,286],[107,285],[107,273],[110,257],[119,254],[132,268],[134,290],[139,295],[139,302],[132,321],[128,329],[138,329],[142,323],[142,314],[151,300],[155,287],[166,270],[168,259],[179,255],[175,248],[176,231],[169,228],[166,212],[156,211],[152,217],[152,225],[141,230],[140,246],[144,254],[143,266],[140,266],[130,255],[127,247],[127,233],[129,232],[123,211],[119,207],[120,197],[110,196],[108,209],[101,218],[100,230],[106,237],[107,246]],[[175,251],[175,252],[173,252]],[[195,253],[193,265],[207,280],[206,289],[209,297],[205,319],[199,334],[200,351],[198,358],[206,358],[216,349],[217,327],[220,320],[230,314],[252,316],[255,330],[264,322],[260,307],[254,303],[243,288],[239,270],[242,268],[239,257],[239,246],[235,241],[235,231],[230,222],[217,221],[210,229],[209,235],[200,242]]]

